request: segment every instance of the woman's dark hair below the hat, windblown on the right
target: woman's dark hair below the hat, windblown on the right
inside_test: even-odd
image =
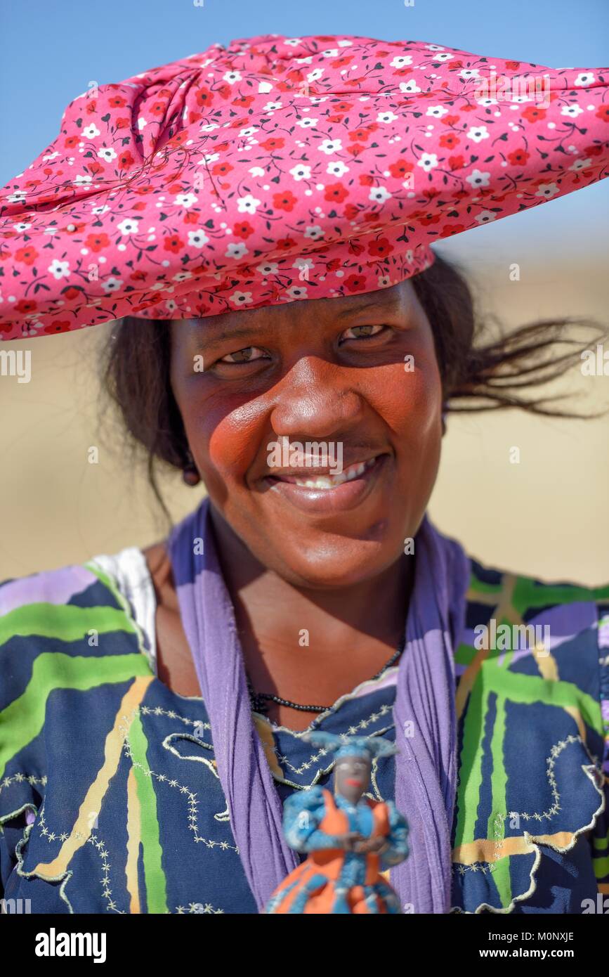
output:
[[[489,319],[476,321],[470,287],[461,271],[436,254],[426,272],[411,279],[433,330],[446,409],[452,412],[520,407],[554,417],[595,417],[548,407],[564,396],[539,388],[581,362],[589,343],[606,338],[589,319],[542,319],[488,338]],[[171,521],[157,480],[159,463],[183,469],[188,443],[170,385],[170,330],[165,319],[119,319],[102,355],[102,385],[122,417],[134,449],[144,448],[148,482]],[[578,341],[574,327],[595,330]],[[559,352],[557,344],[565,346]],[[528,396],[522,396],[525,391]],[[536,396],[537,395],[537,396]],[[601,412],[603,413],[603,412]]]

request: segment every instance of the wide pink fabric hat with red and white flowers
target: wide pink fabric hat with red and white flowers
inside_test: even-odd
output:
[[[609,172],[609,68],[267,34],[93,86],[0,192],[0,337],[370,292]]]

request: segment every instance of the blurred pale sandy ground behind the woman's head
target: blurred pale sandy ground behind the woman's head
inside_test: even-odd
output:
[[[468,253],[457,238],[442,248],[466,260],[481,310],[514,325],[552,315],[608,322],[604,259],[529,256],[521,261],[521,280],[510,282],[512,245],[490,256],[485,230],[476,232]],[[15,344],[31,350],[31,382],[0,377],[0,579],[166,535],[143,468],[120,450],[118,426],[106,425],[103,435],[100,429],[96,369],[107,333],[102,326]],[[578,410],[609,406],[609,376],[585,379],[576,369],[559,390],[576,394]],[[100,447],[99,464],[89,463],[90,446]],[[519,464],[509,461],[512,446],[520,448]],[[201,495],[179,475],[163,487],[175,520]],[[589,421],[522,411],[449,415],[429,513],[482,562],[546,579],[607,583],[608,499],[609,415]]]

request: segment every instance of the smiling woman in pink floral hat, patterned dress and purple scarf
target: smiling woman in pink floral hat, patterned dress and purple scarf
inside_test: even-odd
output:
[[[215,45],[75,100],[7,189],[5,337],[119,319],[128,430],[207,489],[146,550],[0,586],[7,898],[264,911],[299,865],[283,801],[332,770],[306,731],[395,743],[369,796],[408,823],[402,912],[606,890],[609,587],[482,567],[426,517],[449,403],[551,412],[520,388],[580,355],[540,363],[552,323],[474,346],[429,249],[605,175],[607,75],[537,70],[545,107],[437,45]]]

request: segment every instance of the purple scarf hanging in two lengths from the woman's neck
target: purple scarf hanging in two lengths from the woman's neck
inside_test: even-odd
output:
[[[283,836],[281,801],[252,721],[209,509],[205,498],[173,529],[169,552],[230,825],[262,912],[276,886],[300,863]],[[195,545],[197,540],[202,545]],[[464,624],[469,563],[459,543],[435,530],[427,516],[415,545],[415,583],[393,706],[399,748],[395,803],[409,824],[410,855],[391,869],[390,880],[405,912],[447,913],[457,786],[453,650]]]

